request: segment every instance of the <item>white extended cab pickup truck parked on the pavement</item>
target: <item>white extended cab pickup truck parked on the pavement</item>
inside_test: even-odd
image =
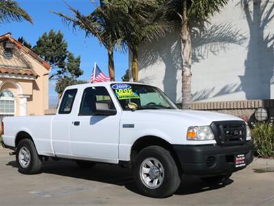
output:
[[[179,176],[221,182],[253,160],[247,124],[238,117],[179,110],[157,87],[101,82],[67,87],[56,115],[5,117],[3,143],[20,172],[40,171],[48,157],[127,165],[142,194],[165,197]]]

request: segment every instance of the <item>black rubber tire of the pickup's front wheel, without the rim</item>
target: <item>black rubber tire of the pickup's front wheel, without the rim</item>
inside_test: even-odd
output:
[[[144,177],[142,177],[143,174],[140,172],[141,168],[144,166],[143,163],[150,158],[155,159],[155,161],[159,161],[161,164],[159,168],[163,167],[164,171],[164,174],[161,172],[158,173],[158,175],[160,174],[159,176],[162,176],[162,183],[160,183],[160,179],[156,181],[158,184],[157,188],[149,188],[149,186],[145,183]],[[138,153],[134,159],[134,179],[141,194],[154,198],[171,196],[174,192],[176,192],[181,182],[181,179],[179,178],[179,171],[173,157],[171,157],[168,150],[165,150],[160,146],[149,146]],[[153,179],[151,179],[151,184],[152,183]]]

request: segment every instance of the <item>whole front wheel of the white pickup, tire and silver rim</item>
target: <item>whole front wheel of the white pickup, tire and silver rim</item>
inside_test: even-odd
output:
[[[134,162],[134,179],[142,194],[164,198],[179,187],[177,165],[168,150],[149,146],[138,153]]]

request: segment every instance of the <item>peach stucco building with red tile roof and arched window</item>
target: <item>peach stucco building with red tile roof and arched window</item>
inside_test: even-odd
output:
[[[31,49],[0,36],[0,117],[44,115],[49,108],[50,65]]]

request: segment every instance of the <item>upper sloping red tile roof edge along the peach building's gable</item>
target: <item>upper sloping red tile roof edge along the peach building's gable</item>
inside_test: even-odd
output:
[[[49,70],[51,68],[51,65],[49,65],[48,62],[46,62],[45,60],[43,60],[42,58],[40,58],[40,56],[38,56],[38,54],[35,54],[34,52],[32,52],[31,49],[25,47],[20,42],[18,42],[15,38],[12,37],[11,33],[3,34],[3,35],[0,36],[0,42],[1,41],[5,41],[5,40],[9,40],[10,42],[14,43],[14,45],[16,45],[16,47],[18,49],[21,49],[23,52],[29,54],[29,56],[32,56],[32,58],[34,58],[35,60],[37,60],[46,69]]]

